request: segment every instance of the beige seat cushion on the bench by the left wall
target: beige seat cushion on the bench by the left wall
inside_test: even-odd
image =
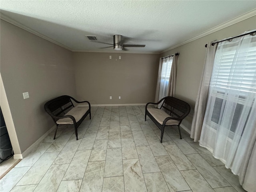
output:
[[[89,107],[74,107],[72,108],[69,112],[67,112],[66,115],[72,115],[76,122],[78,122],[82,116],[84,116],[84,114],[86,113],[86,111],[89,109]],[[57,122],[57,124],[73,124],[72,119],[70,118],[63,118],[63,119],[59,119]]]

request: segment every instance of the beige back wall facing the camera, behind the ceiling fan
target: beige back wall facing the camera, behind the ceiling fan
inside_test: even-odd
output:
[[[154,101],[159,54],[74,52],[73,57],[79,99],[91,104]]]

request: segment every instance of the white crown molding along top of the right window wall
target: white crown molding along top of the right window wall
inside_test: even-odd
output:
[[[252,10],[252,11],[249,11],[249,12],[247,12],[247,13],[245,13],[245,14],[242,14],[242,15],[240,15],[240,16],[238,16],[238,17],[235,17],[235,18],[233,18],[233,19],[231,19],[231,20],[229,20],[229,21],[227,21],[227,22],[224,22],[224,23],[222,23],[222,24],[220,24],[220,25],[218,25],[218,26],[216,26],[216,27],[214,27],[214,28],[211,28],[211,29],[209,29],[209,30],[207,30],[207,31],[205,31],[205,32],[202,32],[202,33],[200,33],[200,34],[198,34],[198,35],[196,35],[196,36],[194,36],[194,37],[192,37],[192,38],[190,38],[190,39],[188,39],[188,40],[186,40],[186,41],[184,41],[184,42],[182,42],[182,43],[176,44],[176,45],[174,45],[174,46],[172,46],[172,47],[170,47],[170,48],[168,48],[168,49],[166,49],[166,50],[163,50],[163,51],[160,52],[160,54],[162,54],[162,53],[164,53],[164,52],[166,52],[166,51],[170,51],[170,50],[172,50],[172,49],[174,49],[174,48],[176,48],[176,47],[182,46],[182,45],[184,45],[184,44],[187,44],[187,43],[189,43],[189,42],[192,42],[192,41],[194,41],[194,40],[197,40],[197,39],[199,39],[199,38],[201,38],[201,37],[204,37],[204,36],[206,36],[206,35],[209,35],[209,34],[211,34],[211,33],[213,33],[213,32],[216,32],[216,31],[218,31],[218,30],[221,30],[221,29],[223,29],[223,28],[226,28],[226,27],[231,26],[231,25],[233,25],[233,24],[236,24],[236,23],[238,23],[238,22],[241,22],[241,21],[243,21],[243,20],[246,20],[246,19],[248,19],[248,18],[250,18],[250,17],[253,17],[253,16],[256,16],[256,9],[254,9],[254,10]]]

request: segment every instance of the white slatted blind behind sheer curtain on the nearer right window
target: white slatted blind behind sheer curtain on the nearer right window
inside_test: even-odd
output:
[[[256,93],[256,42],[252,42],[246,52],[241,49],[238,53],[236,46],[217,50],[210,86],[224,92],[231,89],[240,90],[241,94]]]

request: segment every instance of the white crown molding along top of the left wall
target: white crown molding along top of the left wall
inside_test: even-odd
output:
[[[8,23],[10,23],[10,24],[13,24],[13,25],[15,25],[15,26],[17,26],[17,27],[19,27],[19,28],[22,28],[22,29],[24,29],[24,30],[26,30],[26,31],[28,31],[28,32],[30,32],[30,33],[32,33],[32,34],[38,36],[38,37],[41,37],[41,38],[43,38],[43,39],[45,39],[45,40],[48,40],[48,41],[50,41],[50,42],[52,42],[52,43],[54,43],[54,44],[56,44],[56,45],[58,45],[58,46],[61,46],[61,47],[65,48],[65,49],[67,49],[67,50],[72,51],[69,47],[67,47],[67,46],[65,46],[65,45],[63,45],[63,44],[61,44],[61,43],[59,43],[59,42],[57,42],[57,41],[55,41],[55,40],[53,40],[53,39],[51,39],[51,38],[45,36],[45,35],[43,35],[43,34],[37,32],[37,31],[35,31],[35,30],[33,30],[33,29],[31,29],[31,28],[29,28],[29,27],[27,27],[27,26],[25,26],[25,25],[23,25],[23,24],[21,24],[21,23],[15,21],[15,20],[13,20],[13,19],[11,19],[11,18],[9,18],[8,16],[6,16],[6,15],[4,15],[4,14],[2,14],[2,13],[0,13],[0,18],[1,18],[2,20],[4,20],[4,21],[6,21],[6,22],[8,22]]]

